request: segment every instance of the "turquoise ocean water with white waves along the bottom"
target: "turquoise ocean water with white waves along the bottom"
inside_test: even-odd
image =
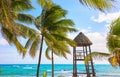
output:
[[[84,65],[77,67],[78,71],[85,72]],[[1,64],[0,77],[35,77],[36,68],[36,64]],[[72,69],[72,64],[55,64],[55,77],[72,77]],[[42,64],[40,77],[43,72],[47,72],[47,77],[51,77],[51,64]],[[113,68],[111,65],[95,65],[95,72],[97,77],[120,77],[120,68]]]

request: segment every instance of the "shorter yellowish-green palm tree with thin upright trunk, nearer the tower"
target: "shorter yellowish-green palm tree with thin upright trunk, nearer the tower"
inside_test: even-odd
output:
[[[51,57],[49,55],[50,52]],[[67,59],[66,53],[70,54],[70,50],[65,41],[58,40],[58,42],[54,44],[52,43],[52,45],[48,46],[48,48],[46,49],[46,57],[52,61],[52,77],[54,77],[54,54],[56,54],[57,56],[63,56]]]

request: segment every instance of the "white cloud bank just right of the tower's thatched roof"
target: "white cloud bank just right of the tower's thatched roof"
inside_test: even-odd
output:
[[[106,35],[103,35],[98,32],[94,33],[87,33],[86,36],[91,40],[92,50],[93,51],[100,51],[100,52],[107,52],[108,49],[106,47]]]

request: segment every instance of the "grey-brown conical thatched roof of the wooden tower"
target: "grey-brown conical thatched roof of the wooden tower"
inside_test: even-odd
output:
[[[77,46],[89,46],[89,45],[92,45],[92,42],[82,32],[80,32],[74,38],[74,41],[77,43]]]

